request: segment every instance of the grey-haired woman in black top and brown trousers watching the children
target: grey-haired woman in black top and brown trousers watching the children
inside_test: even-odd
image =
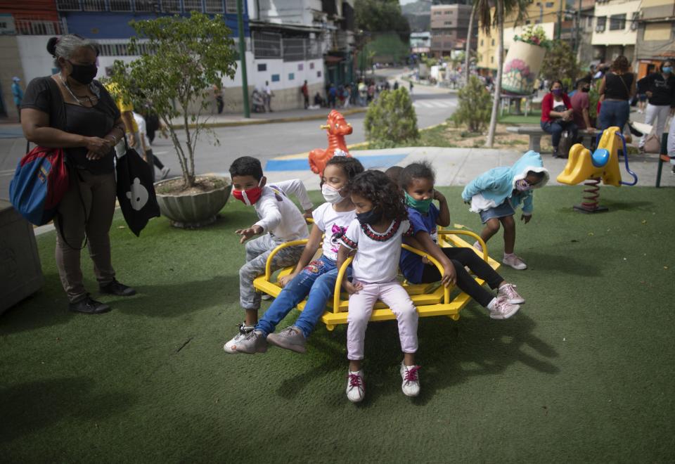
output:
[[[110,307],[84,289],[79,255],[85,236],[99,290],[118,296],[136,293],[115,279],[108,235],[115,212],[114,147],[124,136],[124,124],[113,98],[94,80],[96,42],[68,34],[49,39],[47,51],[60,72],[28,84],[21,125],[28,141],[63,148],[72,168],[70,188],[55,219],[56,266],[70,311],[99,314]]]

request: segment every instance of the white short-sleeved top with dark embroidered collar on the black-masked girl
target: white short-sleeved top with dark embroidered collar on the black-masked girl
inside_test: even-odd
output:
[[[342,245],[356,250],[352,262],[354,280],[364,283],[393,281],[399,269],[401,237],[411,236],[412,232],[407,220],[392,221],[385,233],[378,233],[354,219],[341,240]]]

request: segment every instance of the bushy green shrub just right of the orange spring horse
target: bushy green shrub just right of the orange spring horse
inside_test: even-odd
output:
[[[382,91],[368,106],[364,127],[366,140],[373,147],[388,148],[418,140],[417,115],[405,87]]]

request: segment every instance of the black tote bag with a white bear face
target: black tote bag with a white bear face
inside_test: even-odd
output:
[[[124,138],[126,153],[117,157],[117,201],[124,220],[131,232],[140,236],[143,228],[152,217],[160,217],[160,205],[157,203],[153,184],[152,166],[129,148]]]

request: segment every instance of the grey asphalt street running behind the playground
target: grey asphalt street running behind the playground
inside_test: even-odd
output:
[[[393,73],[393,70],[390,71]],[[396,73],[399,73],[397,70]],[[393,80],[392,80],[393,82]],[[406,85],[406,82],[399,81]],[[456,108],[456,94],[445,89],[415,86],[413,89],[413,105],[418,115],[418,127],[429,127],[444,122]],[[323,110],[328,114],[328,110]],[[290,113],[290,112],[289,112]],[[292,115],[303,114],[293,111]],[[282,115],[283,112],[274,113]],[[307,114],[307,112],[304,112]],[[364,133],[365,113],[349,115],[347,122],[354,127],[351,136],[347,136],[347,144],[366,140]],[[280,155],[292,155],[326,148],[328,141],[326,131],[319,129],[320,120],[303,122],[280,122],[239,127],[218,127],[214,133],[220,140],[220,146],[213,146],[210,136],[205,134],[198,143],[198,155],[195,166],[198,172],[226,172],[230,162],[241,155],[259,157],[265,166],[267,160]],[[18,126],[0,127],[0,197],[6,198],[9,182],[16,163],[25,152],[25,139]],[[160,160],[171,168],[170,175],[178,175],[180,167],[172,144],[166,138],[156,138],[153,152]]]

